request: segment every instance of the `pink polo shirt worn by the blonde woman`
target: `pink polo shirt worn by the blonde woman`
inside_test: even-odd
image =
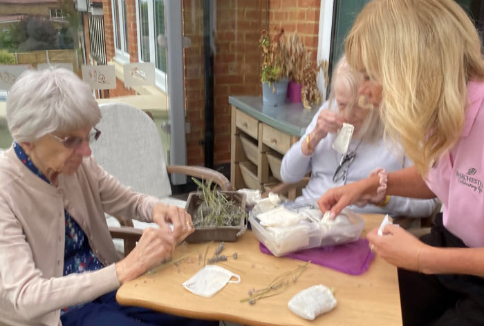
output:
[[[443,202],[445,228],[469,247],[484,247],[484,82],[469,81],[463,131],[427,175]]]

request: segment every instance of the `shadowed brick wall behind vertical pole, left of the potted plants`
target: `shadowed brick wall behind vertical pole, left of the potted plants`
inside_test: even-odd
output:
[[[229,95],[261,93],[261,58],[257,42],[266,28],[265,1],[217,1],[214,53],[214,163],[230,161]],[[203,88],[202,1],[183,1],[183,34],[192,39],[185,49],[185,107],[192,133],[187,137],[188,164],[203,164],[205,93]]]

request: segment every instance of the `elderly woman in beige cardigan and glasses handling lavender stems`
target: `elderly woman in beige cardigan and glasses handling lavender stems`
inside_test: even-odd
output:
[[[14,143],[0,154],[0,324],[204,324],[115,302],[115,289],[194,229],[186,211],[122,186],[91,157],[101,113],[89,87],[69,70],[28,71],[6,117]],[[104,212],[160,228],[120,260]]]

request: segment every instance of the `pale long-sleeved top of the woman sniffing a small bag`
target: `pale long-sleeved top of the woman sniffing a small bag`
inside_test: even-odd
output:
[[[292,145],[282,160],[281,178],[283,182],[298,182],[304,178],[306,173],[311,172],[308,185],[302,189],[302,196],[297,198],[297,200],[317,199],[331,188],[367,178],[371,171],[377,168],[391,172],[413,165],[407,157],[399,154],[398,150],[395,149],[395,153],[389,151],[387,144],[383,140],[372,143],[360,143],[360,140],[351,140],[348,152],[353,151],[357,147],[355,160],[349,166],[346,180],[342,178],[337,182],[333,182],[333,175],[343,156],[331,147],[335,141],[336,134],[328,133],[326,137],[319,141],[313,155],[304,155],[301,151],[301,142],[306,141],[306,135],[313,131],[317,124],[319,112],[325,108],[327,108],[327,103],[319,108],[319,111],[313,117],[313,121],[306,128],[304,136],[301,137],[299,142]],[[360,145],[358,146],[359,143]],[[368,204],[365,207],[351,205],[349,208],[357,213],[383,213],[393,217],[418,218],[429,216],[437,204],[438,200],[436,199],[421,200],[391,196],[389,203],[385,207]]]

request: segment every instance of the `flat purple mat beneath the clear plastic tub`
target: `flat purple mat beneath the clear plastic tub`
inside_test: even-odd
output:
[[[272,255],[262,242],[259,242],[259,249],[263,253]],[[305,249],[289,253],[285,257],[304,260],[305,262],[310,260],[314,264],[336,269],[346,274],[360,275],[368,269],[375,256],[370,251],[368,240],[360,238],[345,245]]]

